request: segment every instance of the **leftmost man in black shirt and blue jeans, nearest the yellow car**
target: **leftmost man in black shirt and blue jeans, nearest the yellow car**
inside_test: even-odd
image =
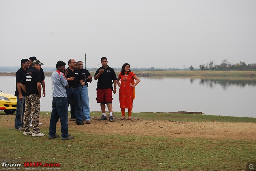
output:
[[[24,73],[29,68],[29,60],[22,59],[20,61],[21,67],[16,72],[16,91],[14,95],[17,97],[17,108],[16,108],[16,116],[15,116],[15,124],[14,127],[16,130],[23,130],[23,115],[25,111],[25,92],[20,88],[20,81],[23,78]]]

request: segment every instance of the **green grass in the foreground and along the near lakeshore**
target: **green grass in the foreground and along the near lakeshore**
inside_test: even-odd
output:
[[[21,131],[13,130],[15,115],[4,115],[2,111],[0,114],[2,114],[0,158],[1,160],[20,160],[21,164],[24,162],[60,163],[60,170],[97,171],[246,170],[246,163],[255,161],[256,156],[256,141],[250,139],[99,135],[86,133],[74,127],[69,128],[75,136],[73,140],[48,139],[47,135],[45,137],[22,136]],[[115,114],[120,115],[117,112]],[[50,118],[50,112],[40,112],[40,115],[40,117]],[[91,116],[100,115],[100,112],[91,112]],[[255,118],[212,115],[142,112],[132,113],[132,116],[148,121],[171,118],[172,121],[186,122],[256,122]],[[41,132],[49,131],[46,125],[40,128]],[[60,132],[60,127],[57,127],[57,132]],[[68,148],[67,145],[72,147]]]

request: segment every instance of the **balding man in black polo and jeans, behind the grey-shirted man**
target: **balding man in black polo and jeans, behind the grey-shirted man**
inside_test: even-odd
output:
[[[84,125],[79,86],[85,85],[85,83],[83,82],[81,72],[76,69],[75,59],[68,60],[68,75],[66,76],[66,80],[68,81],[68,89],[66,90],[68,106],[72,100],[75,105],[76,124]]]

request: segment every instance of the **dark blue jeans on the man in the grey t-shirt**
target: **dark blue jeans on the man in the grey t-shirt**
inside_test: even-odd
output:
[[[52,97],[52,114],[50,119],[49,137],[54,137],[56,133],[56,123],[61,124],[61,137],[68,135],[68,102],[67,97]]]

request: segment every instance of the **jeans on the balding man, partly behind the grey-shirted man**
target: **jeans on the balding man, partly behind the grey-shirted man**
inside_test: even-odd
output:
[[[67,100],[68,100],[68,106],[71,100],[73,100],[75,105],[75,113],[76,113],[76,122],[83,122],[83,113],[81,108],[81,98],[80,98],[80,88],[68,88],[66,90],[67,92]]]

